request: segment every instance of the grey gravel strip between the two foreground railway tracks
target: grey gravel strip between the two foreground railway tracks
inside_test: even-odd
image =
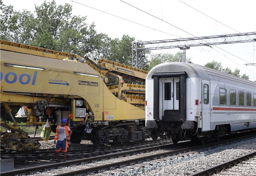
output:
[[[193,172],[203,170],[224,161],[231,160],[238,156],[256,150],[256,138],[250,138],[244,141],[221,144],[216,147],[202,150],[199,153],[191,153],[185,156],[169,156],[162,159],[156,159],[138,164],[137,167],[126,166],[125,170],[120,172],[111,172],[115,176],[163,176],[163,175],[189,175]],[[182,154],[181,154],[182,155]],[[141,165],[143,165],[141,167]],[[98,173],[96,175],[106,175]],[[109,174],[110,175],[110,174]]]

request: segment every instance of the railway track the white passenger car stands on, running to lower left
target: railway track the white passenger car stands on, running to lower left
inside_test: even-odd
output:
[[[193,153],[193,150],[202,150],[202,148],[214,147],[219,144],[223,145],[225,143],[234,142],[236,140],[242,140],[245,137],[252,137],[252,136],[255,136],[255,133],[248,135],[248,136],[242,136],[242,137],[240,136],[240,137],[224,140],[221,142],[209,143],[206,145],[196,145],[193,147],[185,147],[185,148],[182,147],[181,145],[179,146],[179,145],[174,145],[174,144],[165,144],[163,146],[141,148],[141,149],[137,149],[137,150],[117,152],[114,154],[108,154],[108,155],[103,155],[103,156],[98,156],[98,157],[83,158],[83,159],[77,159],[77,160],[73,160],[73,161],[66,161],[66,162],[62,162],[62,163],[37,166],[37,167],[21,169],[21,170],[16,170],[16,171],[2,172],[1,175],[3,175],[3,176],[15,175],[15,174],[20,175],[20,174],[28,174],[28,173],[32,173],[32,172],[38,172],[36,174],[42,175],[40,173],[42,171],[45,172],[44,174],[58,173],[59,176],[81,175],[81,174],[87,174],[87,173],[91,173],[91,172],[99,172],[99,171],[107,170],[110,168],[118,168],[120,166],[130,165],[133,163],[139,163],[139,162],[145,161],[145,160],[153,160],[153,159],[157,159],[157,158],[161,159],[163,157],[174,155],[174,154],[183,153],[184,155],[187,155],[187,154]],[[182,143],[180,143],[180,144],[182,144]],[[191,143],[190,143],[190,145],[191,145]],[[163,149],[168,149],[168,151],[163,150]],[[158,150],[158,151],[155,151],[155,150]],[[142,154],[140,154],[140,153],[142,153]],[[137,155],[135,155],[135,154],[137,154]],[[131,157],[129,155],[135,155],[135,156]],[[125,156],[128,156],[128,157],[125,157]],[[118,158],[118,157],[124,157],[124,158]],[[117,160],[116,161],[106,160],[106,159],[113,160],[113,158],[117,158]],[[79,165],[80,163],[89,163],[89,164]],[[79,165],[79,166],[77,166],[77,165]],[[60,167],[65,167],[65,166],[70,166],[70,167],[68,167],[68,168],[66,167],[64,169],[63,168],[58,169]],[[53,169],[53,170],[50,170],[50,169]]]

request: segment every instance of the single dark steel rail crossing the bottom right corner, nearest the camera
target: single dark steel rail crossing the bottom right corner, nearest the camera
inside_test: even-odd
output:
[[[244,161],[247,158],[250,158],[250,157],[252,157],[254,155],[256,155],[256,151],[248,153],[248,154],[245,154],[245,155],[243,155],[241,157],[238,157],[238,158],[235,158],[235,159],[232,159],[232,160],[220,163],[218,165],[214,165],[214,166],[206,168],[206,169],[204,169],[202,171],[192,173],[189,176],[204,176],[204,175],[212,174],[212,173],[220,171],[220,170],[222,170],[222,169],[224,169],[224,168],[226,168],[228,166],[235,165],[236,163]]]

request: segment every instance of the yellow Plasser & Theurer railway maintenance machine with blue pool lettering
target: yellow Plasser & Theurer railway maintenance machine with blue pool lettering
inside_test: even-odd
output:
[[[12,106],[20,106],[15,117],[27,117],[28,125],[43,125],[48,119],[55,132],[66,118],[73,131],[72,143],[149,137],[145,86],[124,83],[145,83],[147,71],[5,40],[0,47],[1,108],[10,112]],[[107,85],[107,75],[118,77],[119,84]]]

